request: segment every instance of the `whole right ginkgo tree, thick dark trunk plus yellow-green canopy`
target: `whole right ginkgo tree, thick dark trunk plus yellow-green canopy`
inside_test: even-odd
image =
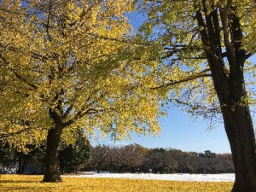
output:
[[[254,1],[255,2],[255,1]],[[256,191],[256,9],[253,0],[140,2],[147,13],[138,34],[162,59],[159,85],[190,113],[222,114],[236,169],[232,192]],[[251,108],[250,108],[251,106]]]

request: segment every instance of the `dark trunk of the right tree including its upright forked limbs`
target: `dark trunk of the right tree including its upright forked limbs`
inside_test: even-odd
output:
[[[256,191],[256,143],[253,120],[247,102],[243,67],[247,52],[242,48],[240,18],[235,15],[236,6],[228,1],[224,8],[207,13],[207,1],[196,12],[201,41],[212,73],[212,81],[218,95],[224,119],[224,127],[230,142],[236,180],[232,192]],[[213,6],[214,7],[214,6]],[[220,15],[218,15],[220,14]],[[220,28],[220,20],[222,29]],[[225,55],[230,72],[224,64],[220,31],[224,32]]]

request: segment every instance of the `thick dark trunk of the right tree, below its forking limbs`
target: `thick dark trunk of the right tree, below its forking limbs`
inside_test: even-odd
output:
[[[212,80],[220,102],[224,127],[230,142],[236,180],[232,192],[256,191],[256,145],[253,120],[247,102],[247,91],[242,70],[230,64],[230,77],[222,78],[218,66],[212,67]],[[238,62],[236,60],[236,62]],[[238,65],[238,66],[241,66]],[[232,73],[234,72],[234,73]]]

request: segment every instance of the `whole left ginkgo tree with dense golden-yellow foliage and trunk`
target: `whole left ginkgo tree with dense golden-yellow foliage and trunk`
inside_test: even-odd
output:
[[[131,42],[132,6],[0,2],[0,129],[21,149],[46,140],[44,182],[61,181],[57,149],[74,141],[77,127],[84,137],[97,131],[114,139],[160,131],[161,95],[150,89],[157,63],[143,65],[151,50],[137,53]]]

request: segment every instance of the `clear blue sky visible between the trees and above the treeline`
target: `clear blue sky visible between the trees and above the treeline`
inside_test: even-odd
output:
[[[131,24],[137,31],[145,20],[144,15],[133,13],[130,15]],[[251,57],[251,61],[256,63],[256,55]],[[256,117],[253,116],[256,122]],[[160,119],[161,133],[158,137],[131,135],[132,140],[122,140],[114,143],[106,138],[105,141],[91,141],[92,145],[126,145],[137,143],[146,148],[176,148],[183,151],[204,152],[211,150],[214,153],[224,154],[230,152],[230,143],[224,131],[224,125],[219,122],[215,129],[209,130],[210,121],[204,119],[190,119],[189,113],[184,113],[176,107],[170,106],[168,116]]]

